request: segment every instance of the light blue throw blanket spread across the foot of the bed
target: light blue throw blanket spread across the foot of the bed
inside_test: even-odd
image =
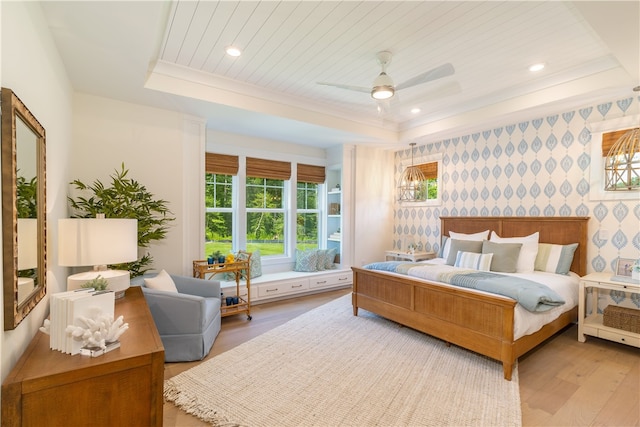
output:
[[[513,298],[525,309],[533,312],[551,310],[565,303],[555,291],[542,283],[489,271],[429,263],[409,264],[406,261],[376,262],[365,265],[363,268],[407,274],[503,295]]]

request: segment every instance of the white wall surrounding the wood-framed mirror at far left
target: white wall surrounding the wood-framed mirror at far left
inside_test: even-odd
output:
[[[57,247],[55,224],[66,213],[66,201],[60,194],[64,194],[69,181],[67,170],[71,151],[72,88],[39,3],[0,2],[0,8],[0,82],[18,95],[46,131],[47,253],[52,254]],[[48,295],[63,290],[65,280],[65,269],[49,258],[47,296],[15,330],[2,332],[2,380],[48,315]]]

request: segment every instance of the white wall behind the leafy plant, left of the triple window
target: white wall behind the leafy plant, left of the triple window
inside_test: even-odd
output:
[[[167,238],[148,248],[153,267],[191,275],[199,257],[191,242],[202,240],[204,122],[87,94],[76,94],[74,111],[71,178],[107,186],[124,162],[128,178],[166,200],[175,216]]]

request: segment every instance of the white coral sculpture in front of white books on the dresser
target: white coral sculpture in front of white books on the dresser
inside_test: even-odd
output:
[[[107,348],[107,343],[117,341],[129,329],[129,324],[124,323],[123,316],[114,321],[113,316],[104,313],[94,317],[78,316],[76,321],[80,325],[69,325],[66,332],[73,339],[82,341],[84,347],[105,349]]]

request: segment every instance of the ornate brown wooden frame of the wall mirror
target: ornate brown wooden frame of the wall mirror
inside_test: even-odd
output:
[[[18,324],[44,298],[47,292],[46,272],[46,145],[45,130],[29,109],[11,89],[2,88],[2,250],[4,330],[15,329]],[[17,198],[17,141],[16,120],[20,119],[36,136],[37,173],[37,240],[38,286],[22,302],[18,301],[18,212]]]

